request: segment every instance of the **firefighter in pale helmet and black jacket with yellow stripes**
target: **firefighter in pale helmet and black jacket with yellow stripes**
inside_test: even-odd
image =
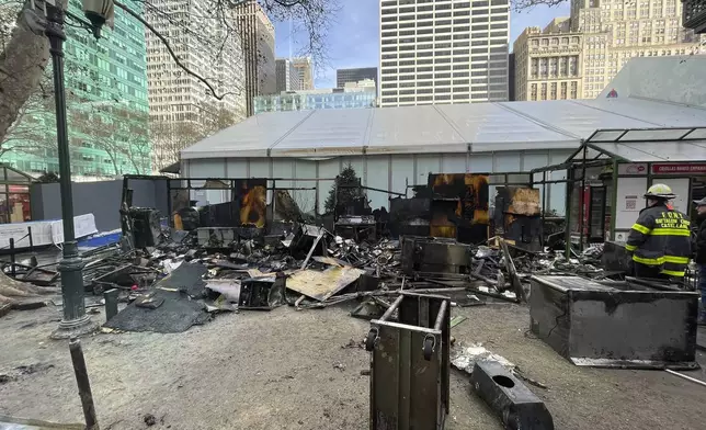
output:
[[[647,190],[647,206],[640,211],[625,249],[633,254],[637,278],[682,280],[692,254],[688,217],[670,208],[672,189],[657,183]]]

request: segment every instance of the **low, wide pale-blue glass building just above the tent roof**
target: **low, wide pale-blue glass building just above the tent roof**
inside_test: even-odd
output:
[[[375,108],[375,81],[348,82],[343,88],[300,90],[278,95],[260,95],[254,100],[255,114],[262,112],[306,111],[312,109]]]

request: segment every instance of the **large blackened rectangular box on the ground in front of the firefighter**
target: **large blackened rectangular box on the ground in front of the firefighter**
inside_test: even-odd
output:
[[[532,331],[576,365],[695,369],[698,294],[634,279],[532,276]]]

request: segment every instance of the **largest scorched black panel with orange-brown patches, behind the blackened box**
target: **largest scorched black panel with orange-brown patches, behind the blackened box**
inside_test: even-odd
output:
[[[463,242],[488,239],[488,176],[441,173],[429,176],[432,194],[430,235]]]

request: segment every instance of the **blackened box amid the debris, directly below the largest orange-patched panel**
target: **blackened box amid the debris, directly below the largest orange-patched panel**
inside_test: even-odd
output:
[[[470,246],[453,239],[405,237],[402,270],[415,273],[469,273]]]

